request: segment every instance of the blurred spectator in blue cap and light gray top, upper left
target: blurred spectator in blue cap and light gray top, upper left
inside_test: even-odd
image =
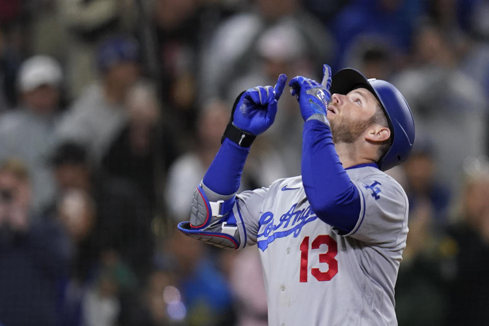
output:
[[[60,143],[75,141],[88,149],[96,167],[127,123],[127,92],[137,82],[139,45],[120,35],[107,39],[97,53],[100,84],[89,86],[66,112],[57,129]]]

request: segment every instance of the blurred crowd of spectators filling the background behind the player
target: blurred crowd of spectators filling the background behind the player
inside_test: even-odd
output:
[[[0,0],[0,325],[267,324],[256,248],[175,232],[235,96],[352,67],[416,123],[399,325],[489,324],[489,0]],[[283,96],[241,189],[300,174]]]

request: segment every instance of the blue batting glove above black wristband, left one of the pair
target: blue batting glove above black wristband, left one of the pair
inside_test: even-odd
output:
[[[275,121],[277,102],[286,82],[287,76],[281,74],[275,87],[258,86],[244,92],[236,104],[233,124],[254,135],[263,133]]]

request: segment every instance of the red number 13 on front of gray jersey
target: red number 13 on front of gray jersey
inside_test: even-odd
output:
[[[338,273],[338,261],[335,259],[338,253],[336,241],[327,234],[318,235],[311,243],[311,249],[319,249],[321,244],[328,245],[328,251],[324,254],[319,254],[320,263],[328,263],[327,271],[320,271],[319,268],[311,268],[311,274],[318,281],[330,281],[336,273]],[[309,254],[309,237],[306,236],[301,242],[301,273],[300,282],[307,282],[307,267]]]

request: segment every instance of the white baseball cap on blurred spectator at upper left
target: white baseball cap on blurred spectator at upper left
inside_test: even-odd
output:
[[[34,56],[25,60],[19,68],[17,87],[29,92],[41,85],[58,87],[63,78],[60,64],[48,56]]]

